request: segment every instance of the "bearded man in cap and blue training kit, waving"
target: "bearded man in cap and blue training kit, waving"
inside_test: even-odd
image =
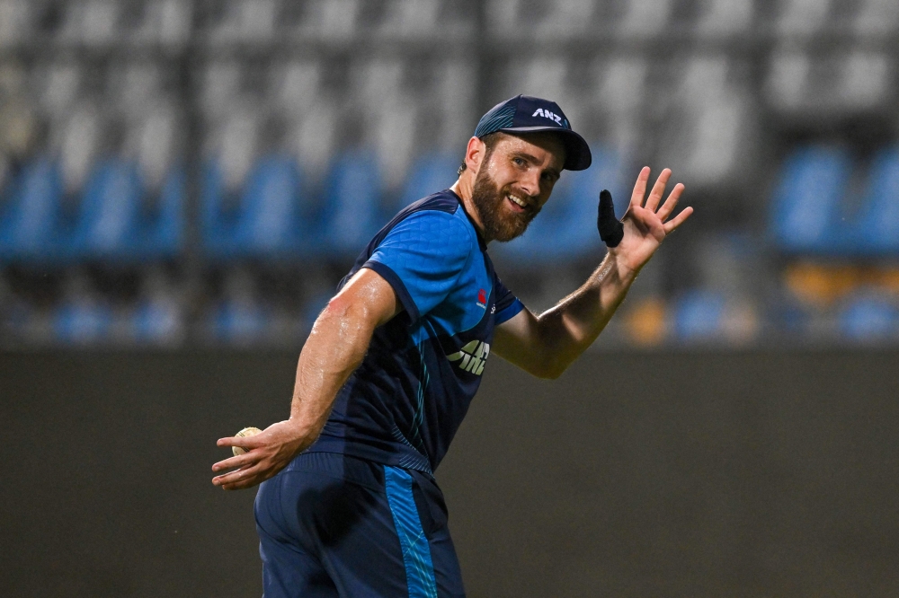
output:
[[[495,353],[541,378],[562,374],[692,211],[668,220],[683,191],[661,202],[668,170],[645,202],[640,172],[621,223],[604,191],[608,255],[537,316],[495,275],[487,243],[523,233],[561,171],[590,162],[554,102],[517,96],[487,112],[456,183],[396,215],[319,315],[290,418],[218,441],[249,452],[216,463],[214,484],[268,480],[255,504],[266,596],[464,595],[432,471],[486,362]]]

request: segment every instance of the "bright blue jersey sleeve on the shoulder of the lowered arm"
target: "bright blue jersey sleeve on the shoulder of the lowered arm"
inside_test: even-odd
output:
[[[363,268],[378,272],[413,321],[449,295],[471,256],[471,231],[447,212],[423,210],[396,224]]]

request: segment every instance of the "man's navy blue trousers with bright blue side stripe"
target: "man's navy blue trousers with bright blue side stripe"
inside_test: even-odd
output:
[[[441,489],[420,471],[304,453],[254,511],[264,598],[465,595]]]

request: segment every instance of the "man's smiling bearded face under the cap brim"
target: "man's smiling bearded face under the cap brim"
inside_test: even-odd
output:
[[[487,241],[511,241],[524,233],[547,203],[565,163],[565,146],[552,133],[500,138],[475,177],[472,200]]]

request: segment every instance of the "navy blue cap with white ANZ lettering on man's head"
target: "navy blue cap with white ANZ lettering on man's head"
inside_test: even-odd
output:
[[[537,133],[553,131],[562,136],[565,143],[565,165],[569,171],[583,171],[590,167],[590,146],[583,137],[571,130],[571,123],[555,101],[541,100],[530,95],[516,95],[500,102],[481,117],[475,136],[481,137],[496,131],[503,133]]]

